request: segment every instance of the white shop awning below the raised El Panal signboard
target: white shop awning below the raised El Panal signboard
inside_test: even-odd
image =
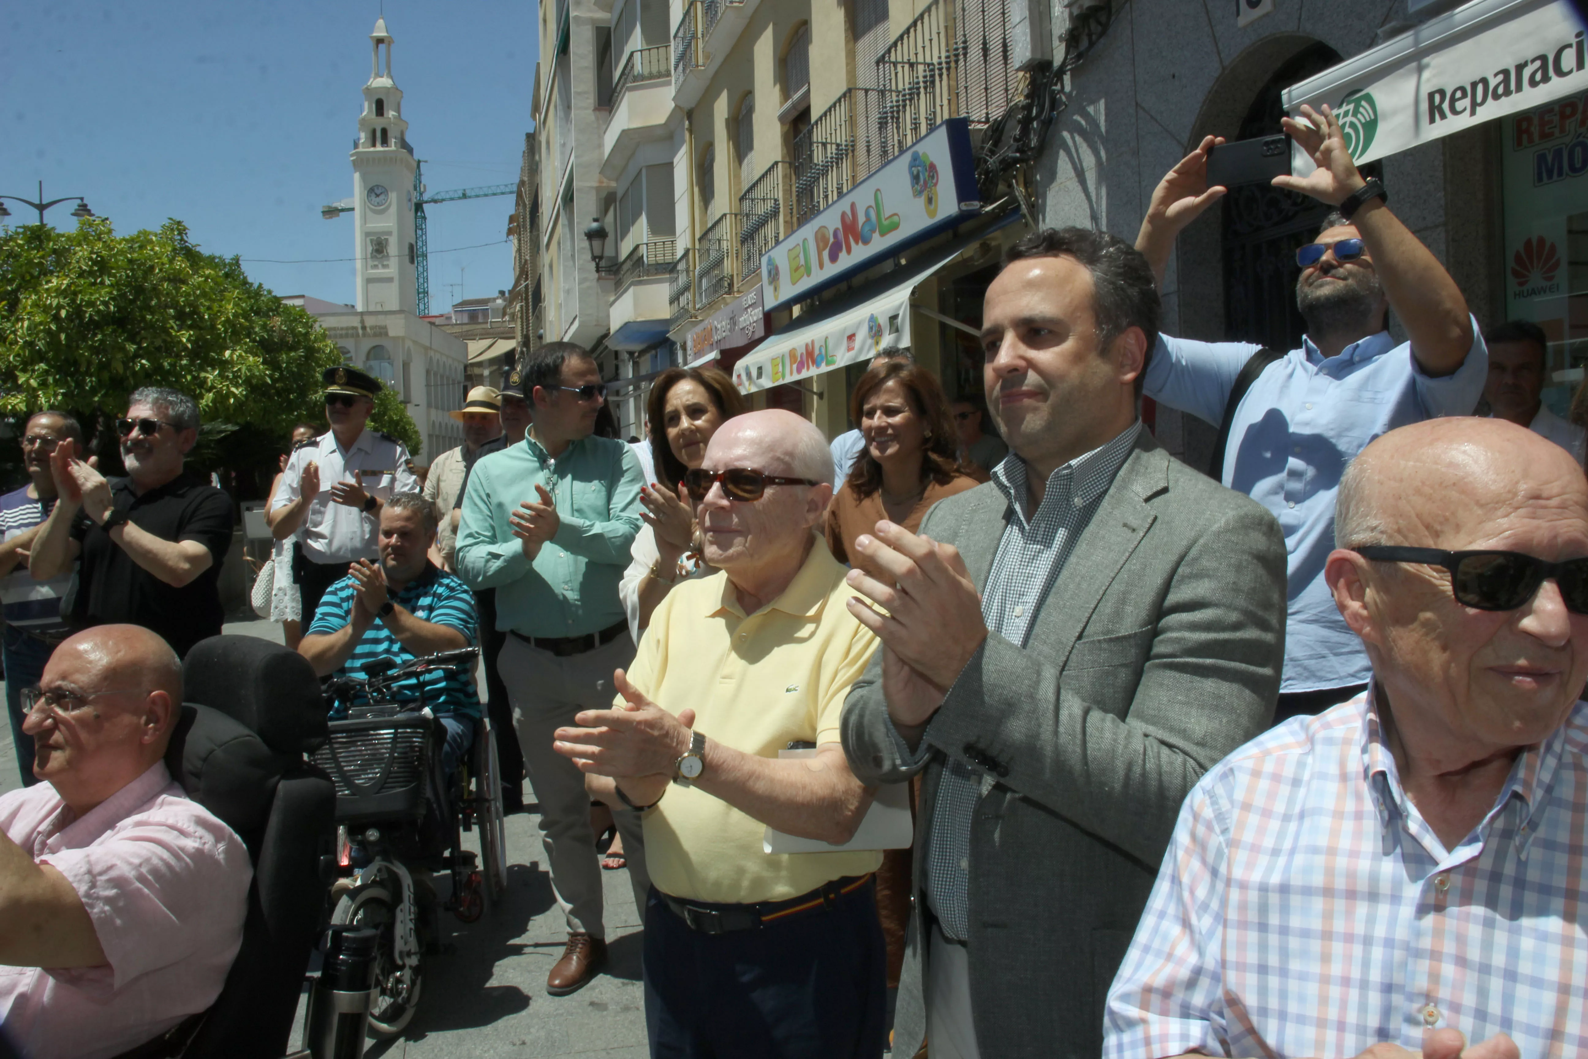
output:
[[[850,364],[862,364],[878,352],[910,346],[910,298],[915,287],[997,229],[1019,219],[1019,211],[989,227],[932,248],[919,259],[885,279],[867,284],[851,297],[837,298],[813,313],[796,316],[788,327],[769,337],[734,365],[734,384],[745,394],[799,383]],[[932,313],[932,316],[937,316]]]

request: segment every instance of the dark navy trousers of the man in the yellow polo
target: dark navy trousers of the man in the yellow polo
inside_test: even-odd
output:
[[[653,888],[643,945],[651,1059],[878,1059],[883,1053],[888,948],[872,883],[831,908],[729,934],[689,927]]]

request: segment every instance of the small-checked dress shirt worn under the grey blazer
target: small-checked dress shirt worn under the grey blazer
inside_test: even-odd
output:
[[[1048,487],[1032,518],[1026,518],[1026,460],[1010,452],[992,468],[992,483],[1010,505],[988,583],[981,586],[981,619],[991,635],[1026,646],[1032,619],[1046,602],[1048,589],[1075,549],[1075,541],[1091,522],[1108,486],[1135,449],[1142,424],[1135,422],[1115,440],[1059,467],[1048,476]],[[932,749],[927,726],[915,753],[899,734],[900,761],[919,762]],[[921,889],[937,916],[943,937],[964,942],[970,937],[970,821],[977,799],[994,780],[951,757],[937,788],[932,826],[923,864]]]

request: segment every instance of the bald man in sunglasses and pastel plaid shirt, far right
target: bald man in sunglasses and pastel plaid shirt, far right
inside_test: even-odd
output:
[[[1104,1054],[1582,1054],[1583,472],[1501,419],[1401,427],[1347,468],[1336,543],[1372,684],[1191,791]]]

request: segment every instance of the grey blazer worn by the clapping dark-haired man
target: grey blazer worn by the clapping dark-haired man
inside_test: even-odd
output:
[[[1010,518],[992,484],[940,502],[921,532],[986,584]],[[926,1034],[921,849],[950,757],[983,776],[970,834],[970,991],[988,1059],[1097,1056],[1104,999],[1180,802],[1274,716],[1285,657],[1285,538],[1251,499],[1147,433],[1018,648],[989,635],[926,732],[896,749],[881,651],[843,705],[867,784],[926,770],[896,1056]]]

